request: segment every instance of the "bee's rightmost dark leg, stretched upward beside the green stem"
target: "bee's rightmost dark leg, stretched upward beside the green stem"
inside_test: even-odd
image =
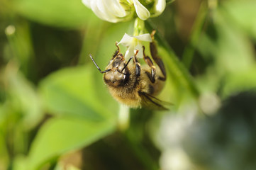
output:
[[[151,33],[152,42],[150,42],[150,53],[155,63],[157,63],[157,65],[159,66],[162,72],[162,75],[164,76],[164,77],[159,77],[159,79],[162,81],[165,81],[166,79],[165,65],[162,62],[161,57],[157,54],[157,45],[155,45],[154,35],[155,35],[155,30],[153,30]]]

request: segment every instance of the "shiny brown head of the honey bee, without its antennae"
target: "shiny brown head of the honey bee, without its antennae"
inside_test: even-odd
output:
[[[123,86],[129,79],[129,71],[121,53],[109,62],[106,69],[109,71],[104,74],[104,81],[109,86]]]

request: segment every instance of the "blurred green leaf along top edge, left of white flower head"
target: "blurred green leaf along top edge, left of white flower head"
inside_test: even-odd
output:
[[[74,28],[100,21],[81,0],[16,0],[14,7],[22,16],[50,26]]]

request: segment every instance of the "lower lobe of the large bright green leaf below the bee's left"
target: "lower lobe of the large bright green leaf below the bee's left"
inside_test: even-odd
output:
[[[91,121],[52,118],[38,132],[30,149],[28,169],[40,169],[45,162],[65,152],[90,145],[115,130],[114,119]]]

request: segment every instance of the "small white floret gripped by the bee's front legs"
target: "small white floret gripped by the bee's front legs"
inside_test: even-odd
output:
[[[143,58],[143,41],[152,42],[152,38],[149,33],[138,36],[132,36],[125,33],[125,35],[123,35],[122,40],[118,42],[118,45],[121,44],[123,46],[128,47],[125,55],[126,58],[132,57],[135,54],[135,50],[139,50],[137,57]]]

